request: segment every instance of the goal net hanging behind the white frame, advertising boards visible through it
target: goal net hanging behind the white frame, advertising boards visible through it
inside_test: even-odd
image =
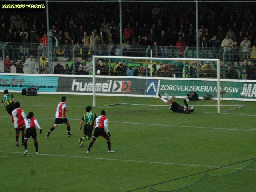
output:
[[[218,113],[242,106],[243,68],[219,59],[93,56],[93,69],[94,106],[167,106],[163,91],[180,105],[189,98],[189,106]]]

